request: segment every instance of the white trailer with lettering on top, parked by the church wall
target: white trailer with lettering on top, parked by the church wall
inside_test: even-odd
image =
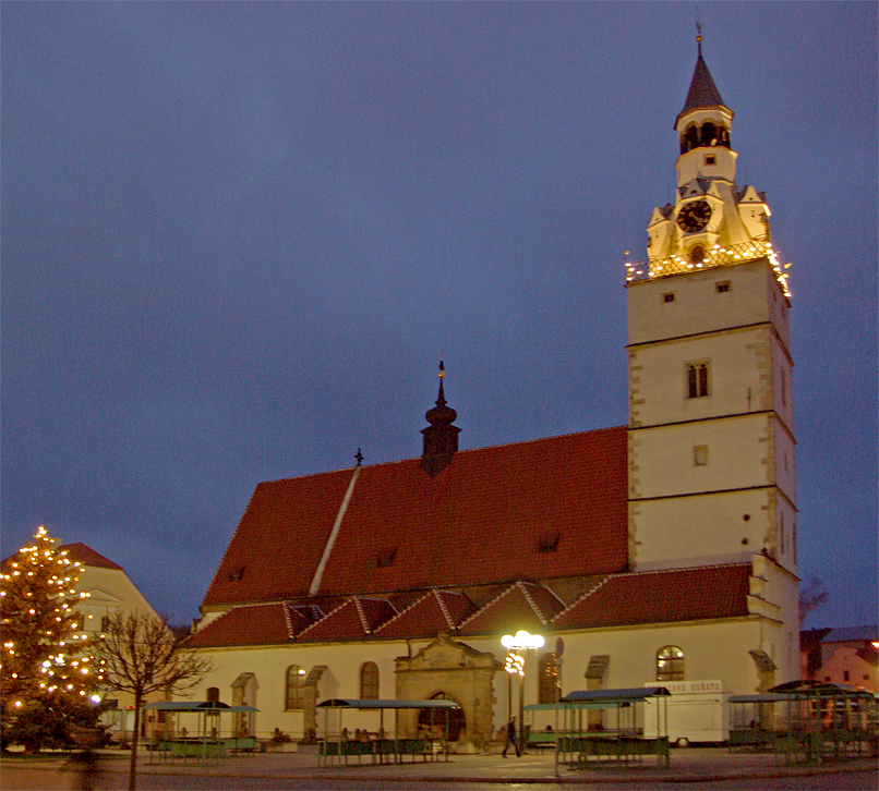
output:
[[[669,715],[669,741],[681,747],[695,742],[725,742],[730,738],[730,696],[723,682],[649,681],[645,686],[664,686]],[[655,701],[645,702],[645,735],[655,738],[657,717],[651,711]],[[652,716],[651,716],[652,715]]]

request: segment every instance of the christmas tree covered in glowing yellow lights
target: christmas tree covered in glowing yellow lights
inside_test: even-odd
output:
[[[75,610],[88,594],[75,591],[81,564],[56,544],[40,526],[33,544],[7,559],[0,573],[4,744],[27,739],[31,747],[39,749],[40,740],[57,746],[69,726],[94,721],[88,704],[100,666],[88,654]],[[51,722],[50,733],[44,721]]]

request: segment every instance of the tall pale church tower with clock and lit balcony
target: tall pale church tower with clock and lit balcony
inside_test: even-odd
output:
[[[733,111],[697,40],[675,121],[675,203],[653,209],[648,260],[627,264],[629,563],[636,571],[770,564],[788,579],[782,598],[790,598],[796,507],[787,278],[764,194],[736,185]],[[779,596],[767,614],[790,625],[796,605]]]

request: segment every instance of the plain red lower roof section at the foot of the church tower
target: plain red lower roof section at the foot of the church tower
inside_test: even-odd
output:
[[[750,564],[614,574],[552,620],[553,629],[667,623],[748,613]]]

